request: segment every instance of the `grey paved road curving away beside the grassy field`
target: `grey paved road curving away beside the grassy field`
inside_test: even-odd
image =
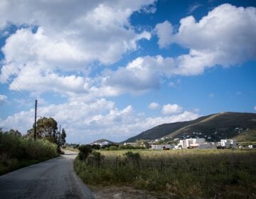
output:
[[[73,170],[73,152],[0,176],[1,199],[93,198]]]

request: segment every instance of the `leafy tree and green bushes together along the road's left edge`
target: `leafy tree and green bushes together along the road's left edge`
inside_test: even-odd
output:
[[[38,119],[36,124],[36,140],[33,139],[33,128],[23,136],[17,130],[0,129],[0,175],[61,154],[65,129],[60,133],[57,122],[51,117]]]

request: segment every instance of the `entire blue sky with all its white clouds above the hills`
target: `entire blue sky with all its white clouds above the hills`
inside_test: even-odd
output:
[[[256,1],[0,0],[0,127],[68,143],[256,112]]]

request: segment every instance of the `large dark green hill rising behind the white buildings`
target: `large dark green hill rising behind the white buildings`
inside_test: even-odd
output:
[[[219,141],[220,139],[233,138],[256,130],[256,114],[221,112],[199,117],[187,122],[174,122],[161,124],[152,129],[146,130],[137,136],[133,136],[124,142],[134,142],[137,139],[159,139],[163,136],[172,138],[200,137],[208,141]]]

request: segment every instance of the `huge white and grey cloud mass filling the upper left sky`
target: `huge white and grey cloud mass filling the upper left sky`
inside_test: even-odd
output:
[[[38,81],[28,90],[45,87],[46,81],[51,85],[47,90],[80,92],[87,82],[76,70],[116,63],[124,53],[137,50],[137,41],[151,38],[151,33],[135,30],[129,17],[134,11],[149,11],[152,4],[154,0],[1,1],[0,31],[10,24],[18,28],[1,49],[1,82],[17,77],[28,86],[26,77],[33,75]]]

